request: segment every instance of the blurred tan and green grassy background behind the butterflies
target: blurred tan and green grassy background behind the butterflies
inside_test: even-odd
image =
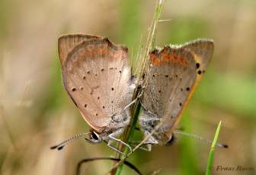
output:
[[[215,42],[213,60],[185,111],[184,132],[213,139],[222,120],[214,166],[254,167],[256,173],[256,2],[165,1],[156,46],[197,38]],[[80,139],[62,151],[50,146],[82,132],[88,124],[62,88],[57,40],[87,33],[125,44],[133,56],[145,46],[155,1],[0,1],[0,174],[74,174],[78,161],[110,157],[107,145]],[[132,53],[130,53],[130,56]],[[203,174],[210,145],[176,135],[174,145],[138,150],[127,160],[142,173]],[[136,132],[135,140],[142,134]],[[102,174],[111,162],[83,166]],[[122,174],[133,174],[124,168]]]

